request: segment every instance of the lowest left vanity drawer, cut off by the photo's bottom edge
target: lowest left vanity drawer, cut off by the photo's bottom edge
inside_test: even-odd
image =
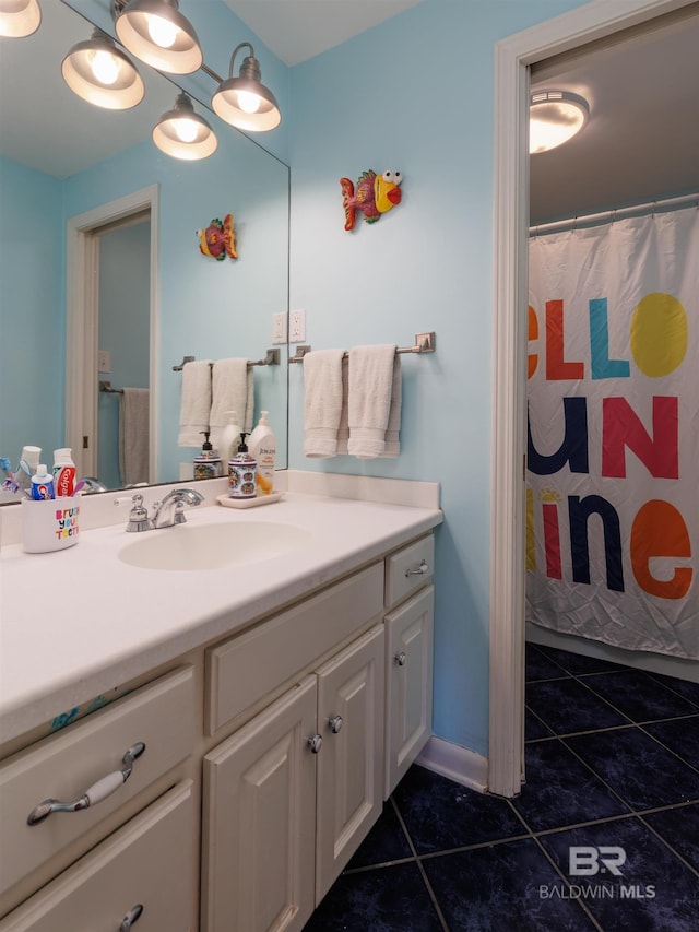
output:
[[[191,782],[170,790],[4,920],[0,932],[189,932],[196,884]]]

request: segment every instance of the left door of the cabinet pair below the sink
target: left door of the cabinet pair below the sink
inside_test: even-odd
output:
[[[313,910],[316,677],[204,757],[202,932],[303,929]]]

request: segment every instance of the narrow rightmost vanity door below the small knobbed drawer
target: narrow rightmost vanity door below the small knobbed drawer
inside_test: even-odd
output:
[[[386,799],[431,733],[434,603],[428,586],[386,616]]]

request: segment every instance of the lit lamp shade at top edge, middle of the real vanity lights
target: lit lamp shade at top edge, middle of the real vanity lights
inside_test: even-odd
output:
[[[177,0],[130,0],[118,13],[119,42],[141,61],[168,74],[191,74],[203,57],[194,27]]]

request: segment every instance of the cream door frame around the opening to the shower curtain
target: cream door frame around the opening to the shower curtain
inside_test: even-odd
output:
[[[519,793],[524,750],[529,67],[694,0],[592,0],[495,47],[488,789]]]

